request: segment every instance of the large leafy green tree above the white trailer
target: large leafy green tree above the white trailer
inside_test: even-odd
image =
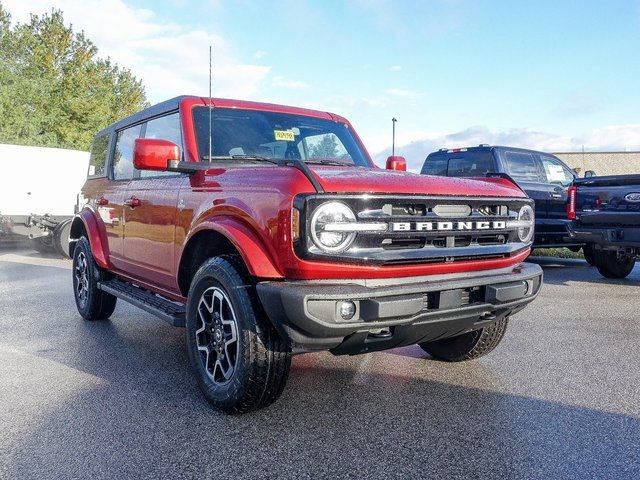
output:
[[[11,24],[0,3],[0,143],[88,150],[147,105],[144,87],[66,26],[59,10]]]

